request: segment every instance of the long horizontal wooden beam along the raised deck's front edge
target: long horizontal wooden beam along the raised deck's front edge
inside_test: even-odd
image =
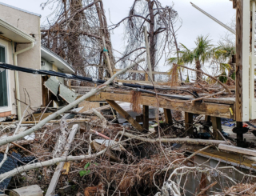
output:
[[[131,94],[114,94],[101,92],[101,98],[121,102],[130,102]],[[145,106],[158,106],[156,98],[150,96],[142,96],[141,104]],[[230,114],[230,107],[232,108],[232,110],[234,110],[233,105],[208,102],[176,102],[175,100],[173,102],[170,102],[166,101],[165,99],[159,98],[159,106],[170,110],[185,111],[193,114],[204,114],[234,119],[234,116]]]

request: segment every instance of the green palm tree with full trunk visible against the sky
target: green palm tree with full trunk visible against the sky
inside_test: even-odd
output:
[[[198,36],[195,41],[196,47],[194,50],[189,50],[184,44],[181,44],[182,50],[178,51],[179,58],[170,58],[170,63],[191,64],[195,63],[196,70],[202,70],[204,62],[208,61],[212,56],[213,45],[208,36]],[[180,69],[180,68],[179,68]],[[197,80],[202,80],[202,74],[197,72]]]

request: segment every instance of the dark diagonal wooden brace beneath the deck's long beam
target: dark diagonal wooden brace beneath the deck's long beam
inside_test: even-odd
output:
[[[134,120],[134,118],[132,118],[130,116],[130,114],[128,114],[125,110],[122,109],[122,107],[120,107],[116,102],[112,101],[112,100],[106,100],[106,102],[108,102],[110,104],[110,106],[112,106],[114,108],[114,110],[117,110],[119,114],[122,115],[123,118],[126,118],[126,120],[128,122],[130,122],[130,124],[132,126],[134,126],[135,129],[139,130],[139,131],[143,131],[143,127],[138,124],[138,122],[136,122]]]

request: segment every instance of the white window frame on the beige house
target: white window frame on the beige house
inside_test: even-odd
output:
[[[8,42],[0,39],[0,46],[5,48],[6,54],[6,63],[8,63]],[[7,99],[8,99],[8,106],[0,106],[0,113],[8,112],[12,110],[11,106],[11,96],[10,96],[10,71],[6,70],[6,80],[7,80]]]

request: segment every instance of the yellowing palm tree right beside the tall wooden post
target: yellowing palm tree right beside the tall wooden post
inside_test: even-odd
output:
[[[226,74],[228,71],[228,76],[235,79],[235,67],[232,63],[232,55],[235,54],[235,46],[227,42],[218,42],[218,47],[214,49],[213,59],[219,62],[220,72]],[[228,81],[230,81],[228,79]]]

